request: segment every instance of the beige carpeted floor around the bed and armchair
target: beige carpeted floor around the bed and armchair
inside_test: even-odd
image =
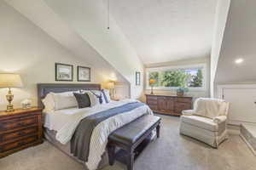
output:
[[[255,170],[256,156],[238,135],[230,135],[218,150],[206,144],[181,136],[179,118],[161,116],[160,139],[148,145],[135,162],[135,170]],[[48,142],[22,150],[0,159],[1,170],[82,170],[83,165],[73,161]],[[123,170],[115,163],[103,170]]]

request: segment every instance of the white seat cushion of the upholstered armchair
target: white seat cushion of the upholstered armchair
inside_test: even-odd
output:
[[[212,119],[203,116],[181,116],[181,122],[188,123],[195,127],[201,127],[203,129],[217,132],[218,124],[213,122]]]

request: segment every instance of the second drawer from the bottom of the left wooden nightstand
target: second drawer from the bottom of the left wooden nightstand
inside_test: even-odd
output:
[[[22,129],[20,131],[12,132],[12,133],[3,133],[3,134],[0,134],[0,143],[1,141],[5,142],[8,140],[13,140],[13,139],[17,139],[22,136],[31,135],[37,132],[38,132],[38,127],[29,127],[26,129]]]

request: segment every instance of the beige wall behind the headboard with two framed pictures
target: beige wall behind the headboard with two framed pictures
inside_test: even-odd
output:
[[[24,88],[13,89],[15,107],[19,107],[20,101],[27,98],[32,99],[33,105],[36,105],[36,84],[55,82],[55,62],[74,66],[74,82],[71,83],[78,83],[76,66],[84,65],[91,67],[91,82],[101,83],[109,78],[117,78],[118,82],[129,86],[125,78],[99,54],[88,51],[94,55],[84,54],[84,59],[76,57],[3,2],[0,2],[0,23],[0,71],[17,72],[24,82]],[[6,94],[7,89],[0,89],[0,110],[4,110],[7,104]],[[129,95],[127,91],[125,95]]]

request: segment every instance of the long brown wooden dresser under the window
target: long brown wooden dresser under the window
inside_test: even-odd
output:
[[[180,116],[183,110],[192,109],[192,97],[176,95],[146,94],[147,105],[160,114]]]

